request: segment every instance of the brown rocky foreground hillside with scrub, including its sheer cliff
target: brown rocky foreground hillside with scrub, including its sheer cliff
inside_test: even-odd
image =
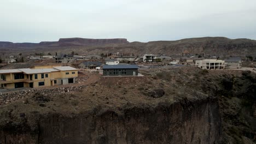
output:
[[[255,74],[184,67],[102,77],[2,105],[1,143],[248,143]],[[23,96],[22,96],[23,97]]]

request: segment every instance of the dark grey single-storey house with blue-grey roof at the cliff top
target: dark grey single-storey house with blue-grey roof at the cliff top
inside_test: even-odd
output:
[[[138,65],[103,65],[104,76],[137,76]]]

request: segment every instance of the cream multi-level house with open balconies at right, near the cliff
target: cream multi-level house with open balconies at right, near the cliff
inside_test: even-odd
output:
[[[202,59],[195,61],[195,65],[201,69],[224,69],[225,61],[220,59]]]

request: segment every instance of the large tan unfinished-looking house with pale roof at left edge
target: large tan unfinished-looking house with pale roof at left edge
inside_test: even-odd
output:
[[[0,88],[49,87],[74,83],[78,70],[72,67],[37,66],[0,70]]]

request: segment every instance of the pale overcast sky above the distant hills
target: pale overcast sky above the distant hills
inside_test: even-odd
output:
[[[256,39],[255,0],[0,0],[0,41]]]

